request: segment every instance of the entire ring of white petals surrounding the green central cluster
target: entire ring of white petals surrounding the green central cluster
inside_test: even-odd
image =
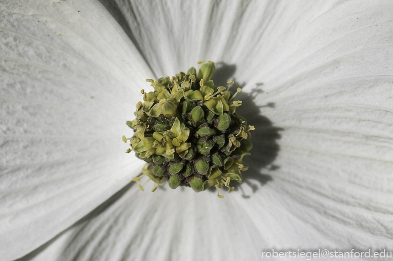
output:
[[[135,2],[106,4],[117,21],[93,0],[0,3],[2,260],[391,246],[391,1]],[[121,137],[144,80],[205,59],[274,103],[260,113],[283,129],[277,167],[250,168],[222,200],[121,190],[143,166]]]

